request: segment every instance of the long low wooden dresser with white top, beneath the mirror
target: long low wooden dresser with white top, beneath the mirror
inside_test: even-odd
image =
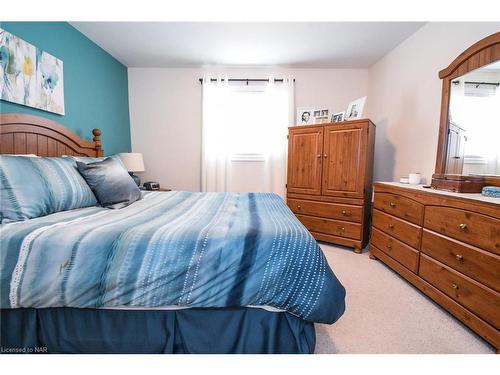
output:
[[[370,257],[500,348],[500,199],[376,183]]]

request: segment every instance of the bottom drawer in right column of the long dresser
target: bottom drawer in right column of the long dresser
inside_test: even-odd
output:
[[[500,327],[500,294],[498,292],[425,254],[420,255],[418,274],[495,328]]]

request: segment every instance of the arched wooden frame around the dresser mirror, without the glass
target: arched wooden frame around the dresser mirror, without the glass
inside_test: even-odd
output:
[[[451,81],[484,65],[500,60],[500,32],[487,36],[462,52],[447,68],[439,72],[443,80],[441,116],[435,173],[446,173]],[[485,176],[487,185],[500,186],[500,176]]]

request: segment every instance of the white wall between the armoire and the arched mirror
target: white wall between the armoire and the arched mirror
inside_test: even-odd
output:
[[[421,172],[436,161],[441,80],[438,72],[500,23],[428,23],[368,72],[367,115],[377,125],[375,180]]]

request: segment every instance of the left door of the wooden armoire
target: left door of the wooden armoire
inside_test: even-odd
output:
[[[287,191],[320,195],[323,127],[298,127],[288,135]]]

